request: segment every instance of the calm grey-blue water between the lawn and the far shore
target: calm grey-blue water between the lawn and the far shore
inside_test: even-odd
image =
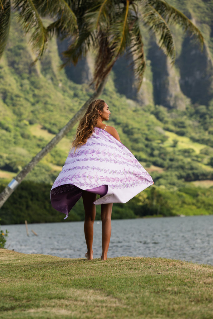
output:
[[[2,226],[10,233],[6,248],[27,254],[84,258],[83,222]],[[31,229],[38,234],[35,236]],[[101,222],[94,224],[94,257],[100,258]],[[213,265],[213,215],[112,220],[108,257],[146,256]]]

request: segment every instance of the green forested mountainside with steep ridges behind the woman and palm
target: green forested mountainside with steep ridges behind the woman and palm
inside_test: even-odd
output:
[[[114,204],[112,218],[212,214],[213,205],[213,4],[172,0],[202,31],[205,45],[173,27],[173,67],[156,39],[141,25],[146,71],[136,90],[131,57],[110,73],[103,98],[109,125],[153,177],[155,185],[126,204]],[[76,67],[60,70],[65,42],[52,40],[41,61],[30,49],[15,17],[0,60],[0,191],[72,118],[93,93],[93,52]],[[77,123],[76,123],[77,125]],[[63,214],[49,201],[51,184],[65,162],[74,129],[27,175],[0,209],[2,224],[56,222]],[[97,207],[100,219],[100,207]],[[81,200],[67,221],[83,220]]]

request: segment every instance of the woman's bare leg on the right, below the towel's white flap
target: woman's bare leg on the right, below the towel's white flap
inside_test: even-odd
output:
[[[101,205],[101,221],[102,221],[102,260],[107,259],[107,252],[110,245],[111,236],[111,215],[112,204]]]

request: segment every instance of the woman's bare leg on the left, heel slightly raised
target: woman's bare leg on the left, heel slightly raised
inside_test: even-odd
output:
[[[96,194],[89,193],[87,191],[82,191],[82,198],[85,211],[85,220],[84,220],[84,235],[87,244],[87,253],[85,256],[88,260],[93,259],[93,225],[95,220],[95,202]]]

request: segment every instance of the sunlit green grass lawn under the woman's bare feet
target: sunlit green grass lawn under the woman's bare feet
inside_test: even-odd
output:
[[[212,319],[213,267],[164,258],[65,259],[0,249],[0,318]]]

